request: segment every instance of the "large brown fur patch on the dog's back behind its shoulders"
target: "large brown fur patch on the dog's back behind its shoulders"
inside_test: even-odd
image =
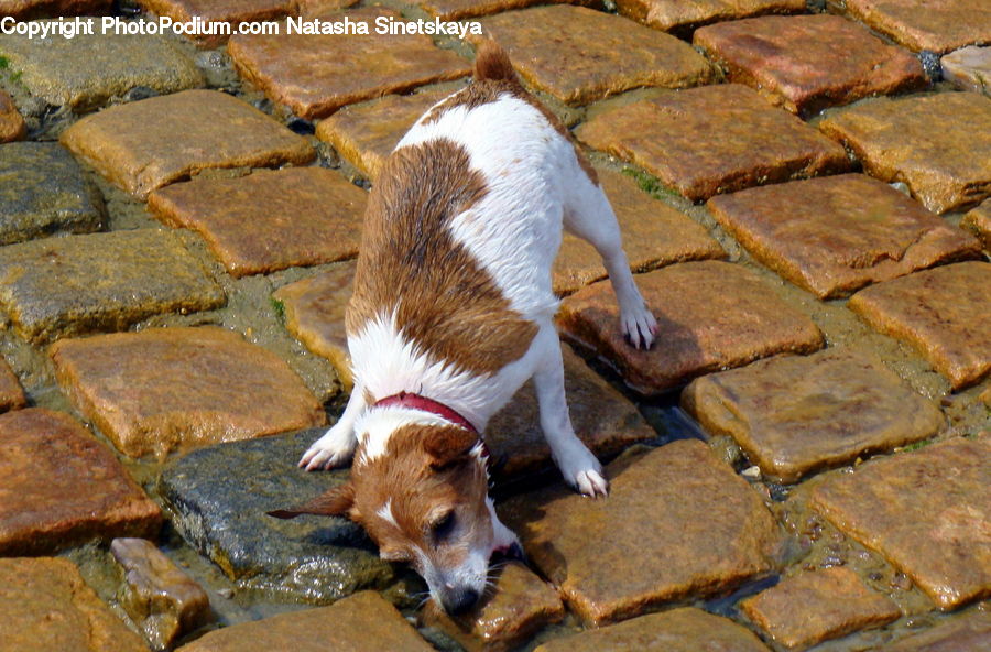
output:
[[[389,156],[364,217],[349,334],[394,309],[407,341],[473,373],[496,373],[526,352],[536,324],[510,308],[496,281],[448,229],[486,192],[468,153],[450,140]]]

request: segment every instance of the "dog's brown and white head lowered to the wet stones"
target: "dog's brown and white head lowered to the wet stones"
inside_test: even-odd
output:
[[[505,545],[497,541],[481,439],[456,425],[407,424],[382,449],[370,448],[359,445],[346,483],[272,515],[346,515],[383,559],[410,563],[445,610],[468,610],[484,590],[490,556]]]

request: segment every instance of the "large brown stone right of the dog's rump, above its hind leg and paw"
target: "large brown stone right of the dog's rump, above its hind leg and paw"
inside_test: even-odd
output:
[[[599,113],[576,134],[694,202],[850,166],[842,148],[739,84],[636,101]]]

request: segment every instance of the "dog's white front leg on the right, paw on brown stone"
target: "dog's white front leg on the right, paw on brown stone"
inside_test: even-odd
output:
[[[560,343],[553,325],[542,328],[546,335],[546,355],[533,376],[537,403],[541,410],[541,427],[551,446],[551,455],[565,480],[586,496],[606,496],[609,483],[602,475],[602,465],[575,435],[564,388],[564,362]]]

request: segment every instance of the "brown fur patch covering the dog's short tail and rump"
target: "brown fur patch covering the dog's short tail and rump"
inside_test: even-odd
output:
[[[551,127],[571,143],[571,146],[575,149],[575,156],[578,159],[578,165],[581,166],[581,170],[588,175],[593,184],[599,185],[599,175],[585,155],[585,152],[581,151],[575,137],[571,135],[568,128],[557,119],[557,116],[551,112],[551,109],[541,104],[537,98],[523,88],[520,78],[516,76],[516,72],[513,69],[513,64],[510,62],[509,55],[492,40],[482,41],[478,46],[477,56],[475,57],[472,84],[431,109],[431,112],[423,118],[422,123],[429,124],[431,122],[439,120],[440,116],[455,107],[465,107],[466,109],[471,110],[482,105],[493,102],[499,99],[500,96],[505,94],[521,99],[538,110]]]

